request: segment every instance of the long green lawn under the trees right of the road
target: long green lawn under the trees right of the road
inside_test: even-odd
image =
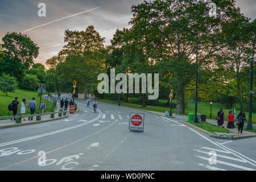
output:
[[[102,102],[108,102],[111,104],[118,104],[117,100],[110,100],[110,99],[100,99],[100,101]],[[173,103],[175,103],[176,105],[176,100],[172,101]],[[126,102],[121,100],[121,105],[122,106],[128,106],[128,107],[134,107],[137,109],[144,109],[144,110],[152,110],[152,111],[159,111],[164,113],[165,111],[170,111],[170,105],[166,105],[167,101],[164,100],[159,100],[158,105],[147,105],[146,108],[142,108],[141,104],[134,104],[132,102]],[[214,119],[217,115],[217,112],[220,108],[223,108],[224,110],[224,116],[225,116],[225,121],[228,121],[228,113],[231,110],[231,108],[226,108],[225,106],[222,106],[218,103],[213,103],[212,104],[212,119]],[[239,113],[240,110],[236,109],[236,115]],[[176,109],[172,109],[172,113],[176,113]],[[195,113],[195,104],[193,103],[188,103],[185,106],[185,115],[188,115],[188,113]],[[197,104],[197,113],[199,114],[206,114],[207,118],[210,118],[210,104],[208,102],[200,102],[199,104]],[[248,112],[245,112],[246,114],[246,118],[248,120]],[[253,112],[252,113],[252,122],[256,123],[256,113]]]

